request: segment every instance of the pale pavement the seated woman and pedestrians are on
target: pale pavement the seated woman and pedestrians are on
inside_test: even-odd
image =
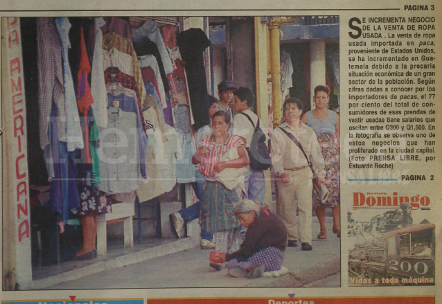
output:
[[[317,240],[319,223],[313,219],[312,251],[301,251],[301,247],[285,251],[283,265],[289,269],[289,274],[280,278],[232,278],[225,268],[222,271],[211,269],[210,251],[197,247],[83,276],[46,289],[339,286],[340,240],[331,231],[332,219],[326,217],[326,222],[327,239]]]

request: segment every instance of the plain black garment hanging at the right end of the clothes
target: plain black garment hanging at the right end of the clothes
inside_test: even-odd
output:
[[[203,56],[204,50],[210,45],[211,41],[200,28],[190,28],[177,35],[177,46],[186,62],[187,84],[195,118],[195,130],[210,123],[209,95]]]

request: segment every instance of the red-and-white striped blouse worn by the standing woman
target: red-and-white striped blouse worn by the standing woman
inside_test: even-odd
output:
[[[220,163],[222,156],[229,150],[244,147],[244,143],[239,136],[229,134],[224,143],[214,143],[213,136],[208,135],[202,139],[198,147],[206,147],[209,152],[201,158],[200,172],[205,177],[215,177],[215,165]]]

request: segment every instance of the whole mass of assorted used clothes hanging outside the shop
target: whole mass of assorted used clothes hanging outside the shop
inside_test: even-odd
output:
[[[195,181],[192,111],[204,112],[205,74],[194,83],[202,88],[191,109],[176,28],[166,28],[170,47],[152,20],[131,31],[119,17],[37,18],[40,146],[50,164],[51,207],[63,221],[70,212],[112,212],[109,195],[145,202]],[[210,41],[195,37],[184,40],[197,42],[188,57],[200,72]]]

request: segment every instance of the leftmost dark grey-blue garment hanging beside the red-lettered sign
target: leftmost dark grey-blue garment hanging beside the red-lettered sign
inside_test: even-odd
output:
[[[48,128],[51,107],[57,107],[56,121],[59,141],[66,138],[62,45],[53,17],[37,18],[37,63],[40,147],[49,145]]]

